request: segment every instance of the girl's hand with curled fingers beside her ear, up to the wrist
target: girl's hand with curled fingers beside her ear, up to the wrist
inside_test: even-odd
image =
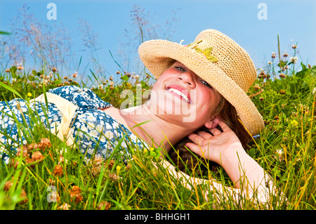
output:
[[[223,159],[229,157],[232,153],[236,155],[236,151],[243,150],[243,148],[239,138],[227,124],[223,121],[218,121],[218,125],[222,128],[223,132],[214,128],[209,129],[213,136],[205,131],[199,131],[197,134],[192,133],[188,138],[193,143],[186,143],[185,145],[192,152],[199,154],[199,156],[217,164],[222,164]]]

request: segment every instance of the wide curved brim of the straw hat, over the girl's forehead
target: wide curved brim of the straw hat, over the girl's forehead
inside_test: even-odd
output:
[[[178,43],[159,39],[145,41],[138,48],[138,53],[145,67],[156,78],[159,78],[174,60],[183,63],[235,107],[237,115],[252,136],[264,129],[263,118],[245,91],[204,55]]]

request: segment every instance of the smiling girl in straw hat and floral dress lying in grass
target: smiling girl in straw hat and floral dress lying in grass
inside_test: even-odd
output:
[[[173,175],[183,176],[192,184],[208,181],[210,188],[232,195],[251,195],[258,190],[268,197],[265,171],[243,148],[250,137],[246,133],[256,135],[264,128],[261,115],[246,95],[256,79],[248,53],[214,29],[204,30],[187,46],[152,40],[141,44],[138,52],[147,69],[157,77],[150,100],[143,105],[114,108],[88,89],[64,86],[34,99],[30,109],[41,117],[48,130],[68,145],[77,145],[85,157],[95,149],[97,154],[108,157],[120,138],[140,148],[160,146],[164,154],[188,136],[192,143],[186,146],[223,166],[238,189],[225,190],[212,180],[177,173],[163,160]],[[32,126],[34,121],[26,113],[25,101],[1,103],[0,111],[0,138],[4,145],[32,141],[25,139],[13,119]],[[202,127],[209,132],[195,133]],[[11,152],[3,151],[2,157],[8,161]]]

